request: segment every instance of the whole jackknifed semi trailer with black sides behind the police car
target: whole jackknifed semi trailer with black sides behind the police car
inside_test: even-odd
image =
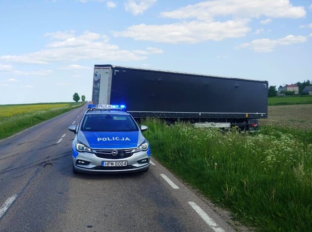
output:
[[[126,105],[136,120],[249,130],[267,118],[267,91],[267,81],[105,64],[94,67],[92,101]]]

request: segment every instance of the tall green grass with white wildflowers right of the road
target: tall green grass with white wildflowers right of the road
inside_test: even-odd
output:
[[[253,135],[144,122],[152,154],[234,217],[260,231],[312,228],[312,132]]]

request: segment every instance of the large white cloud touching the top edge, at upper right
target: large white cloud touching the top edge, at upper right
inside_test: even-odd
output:
[[[289,0],[210,0],[161,12],[163,17],[211,21],[214,16],[258,18],[302,18],[306,15],[303,6],[293,6]]]

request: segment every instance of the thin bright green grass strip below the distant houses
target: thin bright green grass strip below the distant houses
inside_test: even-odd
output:
[[[312,96],[269,97],[268,105],[312,104]]]

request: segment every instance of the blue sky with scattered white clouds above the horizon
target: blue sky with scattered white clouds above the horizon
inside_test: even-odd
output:
[[[0,104],[91,99],[94,64],[312,79],[312,0],[1,0]]]

